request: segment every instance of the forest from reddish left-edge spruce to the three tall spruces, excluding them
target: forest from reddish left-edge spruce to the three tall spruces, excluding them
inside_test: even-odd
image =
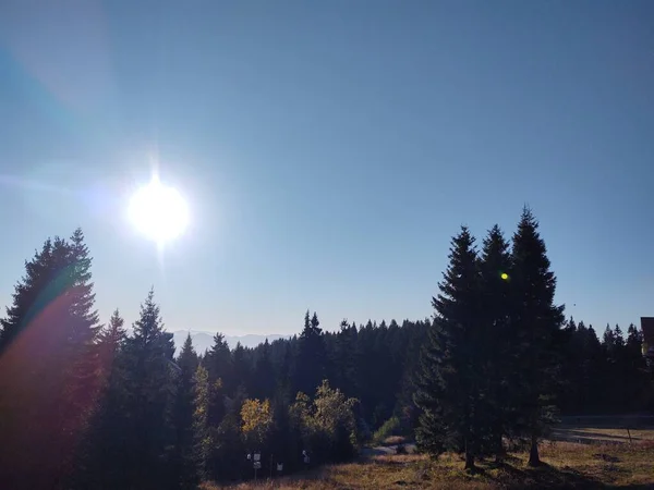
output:
[[[1,320],[0,488],[195,488],[251,478],[254,453],[286,474],[411,406],[428,321],[330,333],[307,311],[293,339],[175,357],[153,291],[129,334],[118,309],[100,323],[90,267],[81,230],[46,241]]]

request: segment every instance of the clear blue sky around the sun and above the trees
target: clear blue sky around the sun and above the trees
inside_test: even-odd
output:
[[[81,225],[97,304],[171,330],[423,318],[460,224],[542,223],[567,314],[654,315],[649,1],[3,1],[0,303]],[[156,157],[190,200],[130,228]],[[573,306],[576,305],[576,306]]]

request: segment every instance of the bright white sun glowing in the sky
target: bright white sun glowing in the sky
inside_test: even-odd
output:
[[[186,201],[156,176],[134,193],[128,213],[136,230],[158,245],[177,238],[189,225]]]

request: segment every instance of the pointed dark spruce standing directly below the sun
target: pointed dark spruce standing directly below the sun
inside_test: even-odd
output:
[[[130,480],[138,488],[157,488],[167,475],[167,446],[173,440],[169,413],[174,345],[172,334],[164,331],[154,290],[141,305],[133,330],[125,345]]]

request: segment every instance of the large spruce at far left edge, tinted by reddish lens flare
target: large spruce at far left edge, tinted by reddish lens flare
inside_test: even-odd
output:
[[[61,488],[97,394],[97,315],[81,230],[47,240],[1,320],[0,438],[11,488]],[[10,442],[11,441],[11,442]],[[27,455],[29,455],[27,457]],[[39,461],[37,470],[31,461]]]

